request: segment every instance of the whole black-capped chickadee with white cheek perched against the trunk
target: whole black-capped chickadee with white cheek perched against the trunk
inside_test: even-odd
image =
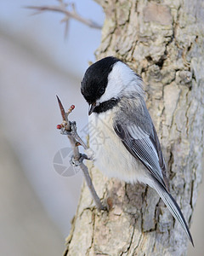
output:
[[[89,124],[106,137],[101,132],[90,134],[95,166],[109,177],[156,189],[193,244],[184,215],[168,192],[166,165],[144,102],[143,80],[110,56],[88,67],[81,90],[90,107]]]

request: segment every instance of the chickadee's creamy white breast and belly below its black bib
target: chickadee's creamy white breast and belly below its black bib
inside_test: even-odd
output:
[[[119,109],[89,116],[90,148],[94,150],[94,166],[108,177],[118,177],[126,182],[148,183],[145,167],[127,151],[113,130],[113,117]],[[147,179],[147,180],[146,180]]]

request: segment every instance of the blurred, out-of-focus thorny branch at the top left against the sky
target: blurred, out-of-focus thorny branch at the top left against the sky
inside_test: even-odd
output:
[[[67,9],[68,5],[71,5],[71,10]],[[97,24],[94,20],[88,20],[88,19],[82,18],[81,15],[78,15],[74,3],[65,4],[63,1],[59,1],[59,5],[26,6],[26,8],[36,10],[37,12],[34,13],[34,15],[45,12],[45,11],[59,12],[65,15],[65,17],[61,21],[66,22],[66,24],[68,24],[68,21],[70,19],[74,19],[95,29],[102,28],[102,26]]]

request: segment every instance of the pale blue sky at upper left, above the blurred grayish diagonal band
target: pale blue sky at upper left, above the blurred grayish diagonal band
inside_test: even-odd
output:
[[[103,25],[103,9],[92,0],[76,0],[77,12],[87,19]],[[100,43],[100,30],[91,29],[71,20],[68,37],[64,39],[65,24],[59,21],[63,15],[46,12],[33,15],[27,5],[54,5],[56,0],[2,0],[0,29],[40,49],[51,61],[65,71],[82,75],[88,61],[94,61],[94,50]]]

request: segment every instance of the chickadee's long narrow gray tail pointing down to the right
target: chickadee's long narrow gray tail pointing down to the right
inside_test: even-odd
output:
[[[180,207],[178,207],[178,203],[173,199],[173,196],[167,192],[167,189],[165,189],[159,182],[156,181],[154,183],[154,189],[156,189],[157,193],[161,196],[162,201],[164,201],[169,211],[173,214],[173,217],[176,218],[179,221],[179,223],[182,225],[182,227],[185,230],[185,233],[189,237],[194,247],[194,242],[190,234],[189,227],[186,224],[184,215],[181,212]]]

